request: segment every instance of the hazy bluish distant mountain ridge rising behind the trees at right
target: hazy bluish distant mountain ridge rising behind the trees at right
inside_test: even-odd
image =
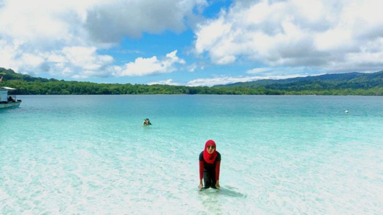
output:
[[[313,90],[313,89],[368,89],[383,87],[383,70],[377,73],[344,73],[321,76],[297,77],[281,80],[264,79],[251,82],[237,82],[220,86],[247,87],[278,90]]]

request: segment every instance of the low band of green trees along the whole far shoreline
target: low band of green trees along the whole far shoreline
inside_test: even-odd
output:
[[[266,86],[250,87],[189,87],[145,84],[97,84],[77,81],[23,81],[9,80],[0,86],[16,88],[13,94],[235,94],[235,95],[383,95],[383,87],[326,89],[313,86],[301,90],[271,89]]]

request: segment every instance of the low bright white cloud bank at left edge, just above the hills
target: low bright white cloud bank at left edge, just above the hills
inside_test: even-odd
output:
[[[71,46],[29,53],[22,52],[17,45],[0,43],[0,50],[4,51],[0,52],[0,66],[28,74],[44,71],[62,77],[102,77],[110,75],[103,69],[113,63],[111,56],[99,55],[95,47]]]

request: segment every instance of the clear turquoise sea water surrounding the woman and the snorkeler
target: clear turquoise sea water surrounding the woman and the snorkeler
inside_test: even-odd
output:
[[[383,97],[17,98],[0,110],[3,214],[383,211]],[[221,190],[200,192],[208,139]]]

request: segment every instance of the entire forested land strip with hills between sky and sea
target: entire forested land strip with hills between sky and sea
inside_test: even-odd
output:
[[[383,95],[383,71],[308,76],[283,80],[259,80],[213,87],[146,84],[97,84],[35,78],[0,67],[1,86],[14,94],[317,94]]]

